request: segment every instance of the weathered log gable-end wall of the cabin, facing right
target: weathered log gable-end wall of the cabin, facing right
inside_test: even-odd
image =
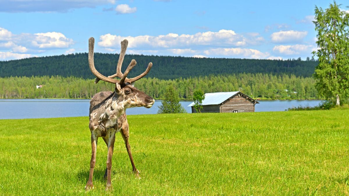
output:
[[[254,112],[254,101],[244,95],[237,94],[230,99],[225,100],[221,106],[221,112]]]

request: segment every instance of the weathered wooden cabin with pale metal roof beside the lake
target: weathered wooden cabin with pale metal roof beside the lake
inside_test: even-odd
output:
[[[240,91],[205,93],[201,112],[254,112],[256,104],[259,102]],[[192,113],[196,113],[194,102],[189,106]]]

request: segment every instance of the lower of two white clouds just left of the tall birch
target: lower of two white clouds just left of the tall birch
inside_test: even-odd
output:
[[[286,55],[294,55],[294,54],[302,54],[302,53],[310,53],[311,51],[315,50],[314,46],[312,45],[279,45],[274,46],[273,51],[280,53],[280,54],[286,54]]]

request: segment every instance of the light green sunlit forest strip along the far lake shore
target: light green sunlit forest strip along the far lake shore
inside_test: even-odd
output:
[[[91,98],[115,85],[75,76],[15,76],[0,78],[0,98]],[[207,92],[241,91],[257,99],[319,99],[312,77],[294,74],[209,75],[163,80],[142,78],[135,86],[155,99],[162,99],[167,86],[179,92],[180,99],[192,99],[196,89]],[[42,85],[37,89],[36,85]]]

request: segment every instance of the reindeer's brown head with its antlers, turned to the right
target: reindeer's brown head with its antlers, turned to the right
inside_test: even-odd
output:
[[[134,78],[127,78],[129,71],[136,65],[136,60],[132,59],[131,63],[128,65],[127,69],[125,70],[124,74],[121,73],[121,65],[124,61],[128,41],[124,39],[121,42],[121,52],[119,56],[118,65],[116,68],[116,74],[111,76],[104,76],[101,73],[99,73],[95,68],[94,63],[94,45],[95,45],[95,39],[91,37],[89,39],[89,53],[88,53],[88,61],[90,70],[92,73],[97,77],[95,83],[98,83],[99,80],[103,80],[105,82],[110,82],[115,84],[115,93],[118,95],[117,97],[117,103],[120,104],[120,106],[126,108],[129,107],[147,107],[150,108],[153,106],[155,100],[148,96],[146,93],[138,90],[135,88],[132,83],[139,80],[143,76],[147,75],[150,71],[151,67],[153,66],[153,63],[149,63],[147,69],[139,76]],[[114,79],[114,77],[119,77],[120,80]]]

